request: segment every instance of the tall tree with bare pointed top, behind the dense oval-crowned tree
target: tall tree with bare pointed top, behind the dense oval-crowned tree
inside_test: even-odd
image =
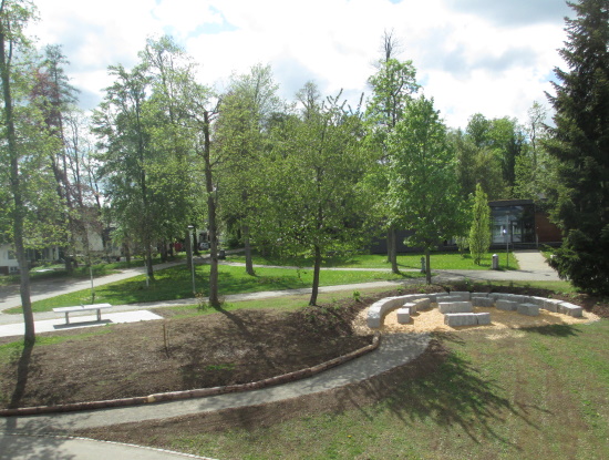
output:
[[[379,190],[386,190],[386,186],[382,185],[386,184],[386,167],[383,167],[386,165],[386,139],[395,130],[406,103],[419,90],[419,84],[412,61],[395,59],[396,43],[393,34],[385,32],[382,41],[383,58],[376,62],[378,72],[368,80],[372,88],[372,96],[368,103],[367,119],[370,126],[369,143],[379,152],[380,167],[371,171],[375,175],[371,177],[372,183]],[[386,200],[382,197],[379,197],[376,207],[386,223],[388,259],[392,272],[399,273],[395,231],[400,226],[400,216],[388,214]]]

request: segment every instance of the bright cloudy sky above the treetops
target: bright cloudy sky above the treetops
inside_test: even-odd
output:
[[[233,73],[270,64],[280,95],[308,81],[357,103],[392,32],[426,98],[451,127],[474,113],[522,123],[547,104],[554,69],[566,69],[564,0],[34,0],[39,47],[61,44],[81,105],[99,104],[107,67],[131,68],[147,38],[171,34],[221,91]]]

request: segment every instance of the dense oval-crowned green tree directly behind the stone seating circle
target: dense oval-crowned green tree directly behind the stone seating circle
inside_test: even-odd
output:
[[[389,194],[392,212],[413,232],[407,244],[422,247],[426,282],[430,254],[443,239],[463,233],[462,198],[454,154],[433,99],[415,99],[388,139]]]

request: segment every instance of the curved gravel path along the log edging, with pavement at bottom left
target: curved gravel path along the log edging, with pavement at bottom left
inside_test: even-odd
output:
[[[240,393],[218,395],[200,399],[186,399],[178,401],[151,403],[135,407],[101,409],[81,412],[51,413],[43,416],[28,417],[2,417],[0,418],[0,459],[25,459],[25,458],[78,458],[99,459],[110,458],[122,459],[171,459],[175,453],[158,452],[145,449],[135,456],[133,447],[121,447],[121,444],[95,444],[90,457],[83,457],[93,441],[68,438],[38,438],[35,435],[49,432],[70,432],[72,430],[103,427],[109,425],[136,422],[143,420],[166,419],[172,417],[210,412],[221,409],[247,407],[266,402],[275,402],[299,396],[311,395],[333,388],[343,387],[349,384],[357,384],[373,376],[406,364],[420,356],[430,343],[429,334],[395,334],[383,337],[380,347],[358,359],[345,362],[336,368],[329,369],[317,376],[297,380],[290,384],[264,388],[260,390],[246,391]],[[10,433],[10,435],[9,435]],[[34,436],[34,437],[32,437]],[[48,449],[49,456],[20,457],[23,444],[30,443],[34,451]],[[21,449],[14,448],[21,444]],[[100,456],[100,449],[107,453]],[[60,456],[61,450],[73,452]],[[27,452],[28,450],[25,450]],[[3,452],[3,453],[2,453]],[[10,453],[12,452],[12,453]],[[80,452],[80,453],[76,453]],[[97,452],[97,453],[94,453]],[[51,456],[53,453],[53,456]],[[13,457],[9,457],[12,456]],[[56,454],[56,457],[54,457]],[[87,453],[89,454],[89,453]],[[152,457],[152,456],[155,457]],[[166,454],[167,457],[158,457]]]

